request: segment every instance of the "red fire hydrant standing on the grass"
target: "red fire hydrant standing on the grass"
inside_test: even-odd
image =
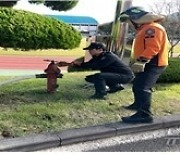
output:
[[[59,87],[57,84],[57,78],[62,78],[61,70],[58,68],[58,65],[51,61],[48,67],[44,70],[47,74],[47,92],[54,93]]]

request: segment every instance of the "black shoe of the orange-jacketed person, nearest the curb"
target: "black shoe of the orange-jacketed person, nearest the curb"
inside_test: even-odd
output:
[[[149,113],[142,112],[142,111],[139,111],[129,117],[122,117],[121,119],[125,123],[132,123],[132,124],[153,122],[152,115]]]

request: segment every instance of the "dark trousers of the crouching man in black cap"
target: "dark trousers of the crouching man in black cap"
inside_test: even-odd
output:
[[[110,88],[116,86],[117,84],[125,84],[133,79],[131,74],[117,74],[117,73],[96,73],[93,75],[86,76],[85,80],[87,82],[94,83],[96,94],[105,95],[106,85]]]

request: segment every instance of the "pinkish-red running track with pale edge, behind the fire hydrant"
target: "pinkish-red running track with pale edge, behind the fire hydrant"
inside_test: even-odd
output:
[[[0,75],[24,75],[43,72],[48,62],[44,59],[71,62],[78,57],[0,55]],[[62,67],[66,71],[67,67]]]

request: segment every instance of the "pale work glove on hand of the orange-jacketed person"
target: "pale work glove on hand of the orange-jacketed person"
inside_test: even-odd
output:
[[[134,73],[140,73],[140,72],[144,72],[144,68],[146,66],[146,63],[148,63],[149,60],[146,59],[137,59],[134,64],[131,65],[131,69]]]

